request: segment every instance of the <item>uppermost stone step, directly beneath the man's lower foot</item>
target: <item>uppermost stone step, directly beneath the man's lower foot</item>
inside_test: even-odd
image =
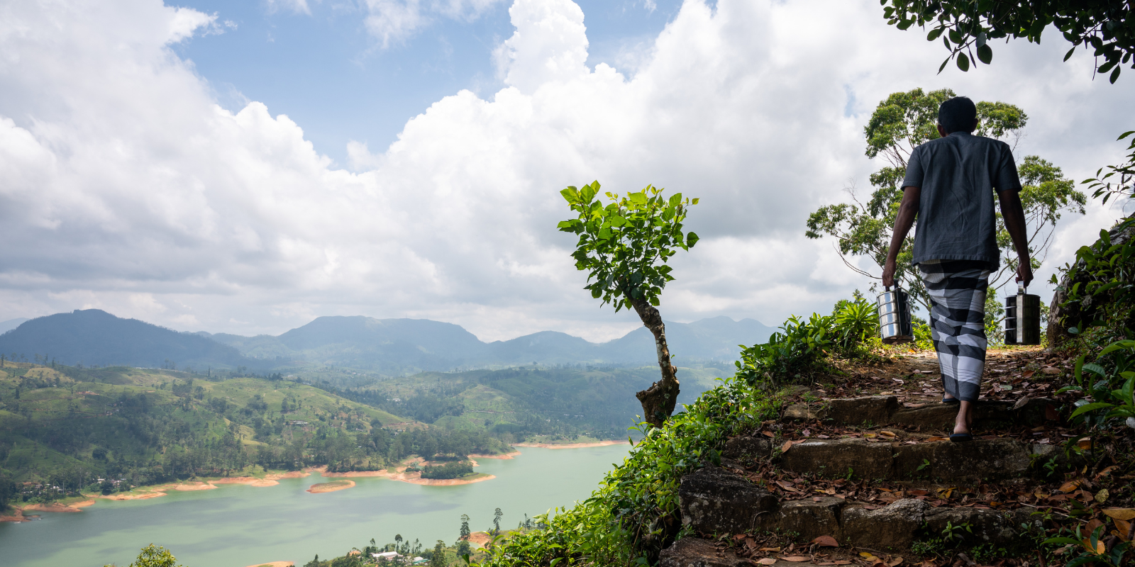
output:
[[[1049,407],[1052,409],[1049,409]],[[1054,403],[1048,398],[1022,398],[1010,401],[981,401],[974,407],[975,428],[1008,425],[1036,426],[1054,418]],[[821,420],[840,425],[900,425],[924,429],[953,426],[957,404],[932,401],[922,407],[905,407],[898,396],[868,396],[831,399],[822,404],[793,404],[784,408],[785,420]]]

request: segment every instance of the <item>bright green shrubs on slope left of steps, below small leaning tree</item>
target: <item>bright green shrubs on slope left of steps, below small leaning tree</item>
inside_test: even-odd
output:
[[[590,498],[538,516],[541,527],[516,534],[473,565],[646,565],[680,530],[682,475],[720,460],[725,439],[776,415],[779,396],[741,378],[722,380],[645,438]]]

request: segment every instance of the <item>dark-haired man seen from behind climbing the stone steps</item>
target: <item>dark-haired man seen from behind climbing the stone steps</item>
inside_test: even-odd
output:
[[[985,291],[1000,266],[993,191],[1017,249],[1017,281],[1033,280],[1020,179],[1004,142],[974,136],[977,108],[965,96],[942,103],[942,137],[915,147],[902,180],[902,202],[883,286],[894,285],[896,261],[915,218],[914,263],[931,297],[930,327],[942,371],[944,404],[959,404],[951,441],[969,441],[973,405],[985,371]]]

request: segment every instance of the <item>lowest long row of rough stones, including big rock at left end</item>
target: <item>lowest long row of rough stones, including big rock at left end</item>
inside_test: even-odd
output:
[[[682,524],[704,534],[772,531],[807,542],[830,535],[841,545],[903,552],[919,538],[941,534],[947,524],[969,525],[969,545],[1008,545],[1018,540],[1022,524],[1035,522],[1029,509],[992,510],[935,508],[918,499],[902,499],[871,509],[836,497],[779,501],[748,479],[720,467],[706,467],[682,477],[679,486]],[[675,564],[676,565],[676,564]]]

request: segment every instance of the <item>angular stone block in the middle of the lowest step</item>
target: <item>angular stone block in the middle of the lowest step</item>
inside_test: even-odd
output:
[[[852,545],[885,551],[906,551],[926,519],[931,506],[922,500],[897,500],[885,508],[868,510],[858,506],[843,508],[843,538]]]

